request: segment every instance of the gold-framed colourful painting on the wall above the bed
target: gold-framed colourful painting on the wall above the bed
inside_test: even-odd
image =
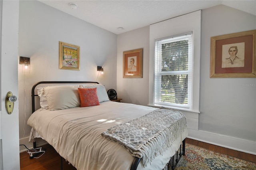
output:
[[[59,42],[59,68],[80,70],[80,47],[78,45]]]

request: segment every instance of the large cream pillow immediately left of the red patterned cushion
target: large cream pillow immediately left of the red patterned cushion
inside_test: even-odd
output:
[[[50,111],[80,106],[78,87],[71,85],[44,87]]]

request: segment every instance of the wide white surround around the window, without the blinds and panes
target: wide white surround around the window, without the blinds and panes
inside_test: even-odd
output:
[[[193,21],[193,22],[191,22]],[[192,82],[192,108],[176,108],[182,111],[182,113],[194,117],[199,111],[200,102],[200,56],[201,56],[201,10],[191,12],[182,16],[174,17],[169,20],[164,20],[150,25],[150,36],[149,36],[149,87],[148,87],[148,106],[151,107],[162,107],[154,103],[154,47],[155,40],[161,37],[167,37],[170,35],[180,34],[182,32],[193,31],[193,82]],[[210,53],[210,52],[209,52]],[[195,114],[196,113],[196,114]]]

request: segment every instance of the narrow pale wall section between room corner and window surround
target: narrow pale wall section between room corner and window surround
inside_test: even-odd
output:
[[[117,94],[124,103],[148,105],[149,26],[117,37]],[[123,78],[123,51],[143,48],[142,78]]]

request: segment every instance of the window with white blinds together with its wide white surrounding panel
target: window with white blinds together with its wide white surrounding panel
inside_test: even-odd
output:
[[[174,42],[182,42],[184,39],[188,42],[187,68],[182,65],[185,63],[183,62],[184,57],[182,56],[184,51],[176,52],[176,56],[172,56],[171,53],[174,53],[175,50],[170,50],[175,49],[171,47],[171,44],[175,44]],[[200,40],[200,10],[150,25],[149,106],[171,107],[182,111],[186,116],[188,115],[193,118],[194,116],[198,116],[197,114],[200,113]],[[170,46],[166,48],[170,57],[166,57],[166,61],[162,62],[162,56],[164,56],[162,52],[164,53],[165,51],[162,49],[162,45],[164,46],[165,43],[167,43],[166,47],[167,45]],[[181,45],[177,47],[179,47],[179,50],[182,49]],[[170,62],[172,62],[172,67],[170,67]],[[176,82],[174,80],[176,80]],[[187,84],[184,83],[186,81]],[[180,89],[176,89],[176,87],[174,89],[174,85],[179,85]],[[168,89],[164,91],[164,88]],[[184,92],[186,92],[185,95]]]

